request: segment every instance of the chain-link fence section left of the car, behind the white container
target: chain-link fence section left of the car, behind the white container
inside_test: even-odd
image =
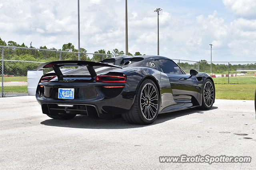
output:
[[[42,63],[57,60],[101,61],[119,55],[76,53],[23,47],[0,46],[0,97],[28,95],[27,72]],[[51,69],[44,69],[44,73]]]

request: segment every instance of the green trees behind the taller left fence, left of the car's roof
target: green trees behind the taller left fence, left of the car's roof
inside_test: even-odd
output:
[[[15,41],[8,41],[7,43],[0,38],[0,45],[9,46],[4,48],[5,60],[18,60],[18,61],[34,61],[34,62],[49,62],[57,60],[78,60],[78,49],[74,47],[72,43],[66,43],[62,45],[62,49],[47,48],[45,45],[40,46],[38,50],[32,46],[32,42],[28,47],[24,43],[21,45]],[[14,48],[12,48],[14,47]],[[15,48],[23,47],[23,48]],[[30,49],[26,49],[30,48]],[[49,51],[52,50],[52,51]],[[2,52],[2,48],[0,49]],[[2,53],[1,53],[2,54]],[[102,55],[103,54],[103,55]],[[115,57],[118,55],[124,55],[124,51],[119,49],[113,49],[112,51],[100,49],[93,54],[88,54],[87,50],[80,48],[80,60],[83,61],[102,61],[107,58]],[[129,53],[129,55],[132,55]],[[142,55],[140,52],[136,52],[135,56]],[[145,54],[144,54],[145,55]],[[26,63],[18,61],[5,61],[4,62],[4,74],[23,76],[26,75],[28,69],[35,69],[40,63]],[[0,70],[2,70],[2,64],[0,64]]]

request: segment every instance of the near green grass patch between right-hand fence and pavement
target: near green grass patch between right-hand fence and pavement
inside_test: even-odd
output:
[[[254,100],[256,84],[215,84],[216,99]]]

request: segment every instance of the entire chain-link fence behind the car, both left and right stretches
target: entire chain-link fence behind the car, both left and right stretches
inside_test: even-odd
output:
[[[97,62],[118,55],[0,46],[0,56],[2,59],[0,97],[8,97],[28,95],[27,71],[36,69],[41,63],[78,60],[78,57],[83,61]],[[212,62],[211,64],[210,62],[173,60],[187,74],[191,69],[210,74],[216,84],[256,84],[256,62]],[[45,73],[49,71],[50,69],[44,70]]]

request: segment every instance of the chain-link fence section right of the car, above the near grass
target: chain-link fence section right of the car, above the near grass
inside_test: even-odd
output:
[[[256,62],[204,62],[174,60],[186,73],[190,69],[209,74],[215,84],[256,84]]]

